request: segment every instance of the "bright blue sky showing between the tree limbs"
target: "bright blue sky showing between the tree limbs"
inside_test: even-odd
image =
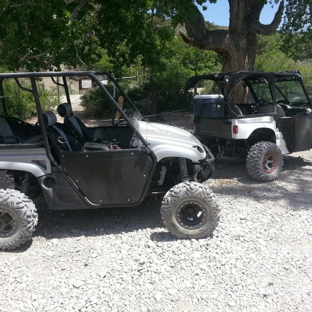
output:
[[[206,2],[204,5],[208,7],[208,9],[206,11],[202,11],[202,8],[200,8],[200,10],[205,17],[205,21],[211,23],[214,22],[215,25],[229,26],[230,15],[228,0],[218,0],[215,4]],[[271,4],[266,4],[260,15],[260,22],[262,24],[270,24],[274,18],[277,8],[278,4],[275,4],[273,9],[271,8]]]

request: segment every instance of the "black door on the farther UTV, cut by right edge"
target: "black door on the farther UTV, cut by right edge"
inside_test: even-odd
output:
[[[312,116],[278,118],[278,125],[290,153],[311,148]]]

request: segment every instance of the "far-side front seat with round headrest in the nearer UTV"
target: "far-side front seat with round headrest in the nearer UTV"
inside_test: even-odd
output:
[[[102,141],[100,139],[95,139],[95,137],[91,134],[91,132],[85,126],[85,124],[79,118],[73,115],[73,110],[69,103],[62,103],[58,105],[57,113],[61,117],[64,117],[64,124],[69,129],[74,131],[80,143],[85,144],[86,142],[93,142],[93,143],[102,143],[105,145],[113,144],[110,141]]]

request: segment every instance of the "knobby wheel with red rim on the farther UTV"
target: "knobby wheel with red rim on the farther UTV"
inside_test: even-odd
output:
[[[283,168],[283,154],[272,142],[256,143],[248,152],[246,168],[251,178],[257,181],[274,181]]]

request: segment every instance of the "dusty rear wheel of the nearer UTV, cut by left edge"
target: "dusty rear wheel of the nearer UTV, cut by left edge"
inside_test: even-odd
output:
[[[0,249],[14,249],[28,241],[38,222],[37,209],[25,194],[0,189]]]

